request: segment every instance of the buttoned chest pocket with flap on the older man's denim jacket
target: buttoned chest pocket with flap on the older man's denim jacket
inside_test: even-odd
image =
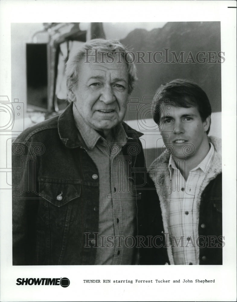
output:
[[[43,198],[39,207],[40,223],[53,229],[76,221],[81,185],[40,181],[39,193]]]

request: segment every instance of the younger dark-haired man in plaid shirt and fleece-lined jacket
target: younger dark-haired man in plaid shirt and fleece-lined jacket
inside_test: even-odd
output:
[[[221,140],[208,136],[210,115],[206,93],[190,81],[171,81],[155,94],[153,118],[165,145],[149,171],[171,264],[222,264]]]

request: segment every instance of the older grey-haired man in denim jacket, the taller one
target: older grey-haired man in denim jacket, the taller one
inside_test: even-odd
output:
[[[14,265],[137,263],[144,199],[156,197],[142,133],[122,122],[131,61],[118,41],[85,43],[67,62],[69,106],[14,142]]]

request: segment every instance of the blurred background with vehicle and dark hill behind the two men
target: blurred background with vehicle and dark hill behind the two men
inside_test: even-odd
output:
[[[69,53],[101,37],[118,39],[133,53],[146,53],[143,60],[135,60],[138,81],[125,121],[144,133],[141,141],[148,166],[163,145],[150,113],[152,95],[173,79],[189,79],[203,88],[213,112],[209,135],[221,137],[220,22],[12,23],[11,98],[24,103],[24,129],[64,111]],[[149,59],[148,52],[159,52],[155,59],[160,63]]]

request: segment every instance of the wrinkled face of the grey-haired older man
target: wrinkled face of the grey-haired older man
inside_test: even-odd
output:
[[[107,136],[126,113],[127,66],[116,60],[113,63],[94,63],[93,58],[89,61],[80,63],[73,101],[84,122]]]

